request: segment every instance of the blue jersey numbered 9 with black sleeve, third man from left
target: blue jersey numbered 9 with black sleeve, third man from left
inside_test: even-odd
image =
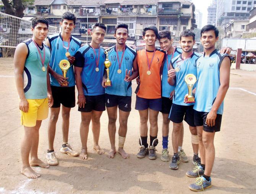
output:
[[[99,71],[96,71],[96,59],[99,56]],[[96,56],[91,45],[84,45],[78,49],[75,54],[76,61],[74,65],[76,67],[83,67],[81,72],[81,78],[83,82],[84,95],[96,96],[105,93],[105,88],[102,87],[101,82],[104,75],[104,61],[106,59],[104,48],[96,48]]]

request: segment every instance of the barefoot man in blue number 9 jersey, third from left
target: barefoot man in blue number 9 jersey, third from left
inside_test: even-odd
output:
[[[75,54],[75,79],[78,90],[78,111],[81,112],[80,136],[82,149],[80,159],[88,159],[87,138],[92,121],[94,150],[104,154],[99,146],[100,117],[105,111],[105,88],[101,86],[104,75],[104,48],[100,47],[106,33],[106,26],[96,23],[92,29],[92,42],[84,45]]]

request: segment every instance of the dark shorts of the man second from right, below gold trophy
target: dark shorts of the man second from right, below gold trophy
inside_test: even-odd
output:
[[[194,105],[183,106],[172,104],[171,112],[169,115],[169,119],[174,123],[181,123],[183,119],[190,125],[191,127],[196,127],[194,124]]]

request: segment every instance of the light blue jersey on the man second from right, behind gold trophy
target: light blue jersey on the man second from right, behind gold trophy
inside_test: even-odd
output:
[[[184,103],[184,96],[188,94],[188,87],[185,82],[185,76],[188,74],[194,74],[197,75],[196,71],[196,59],[198,58],[198,55],[193,52],[191,57],[186,60],[182,60],[181,54],[177,56],[176,58],[172,59],[172,67],[175,69],[177,66],[180,67],[180,71],[176,72],[176,81],[175,81],[175,93],[173,96],[172,103],[183,105],[183,106],[190,106],[194,103]],[[194,87],[196,84],[194,84]]]

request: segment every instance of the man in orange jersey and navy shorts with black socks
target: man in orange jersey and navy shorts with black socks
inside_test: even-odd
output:
[[[137,154],[138,158],[144,158],[149,154],[149,159],[156,159],[157,139],[157,117],[162,109],[161,77],[160,70],[164,61],[165,52],[155,47],[158,30],[156,26],[148,26],[143,29],[143,39],[146,46],[137,49],[137,63],[139,67],[140,84],[136,90],[135,109],[139,111],[140,117],[140,139],[141,148]],[[150,123],[150,145],[147,144],[147,121]]]

